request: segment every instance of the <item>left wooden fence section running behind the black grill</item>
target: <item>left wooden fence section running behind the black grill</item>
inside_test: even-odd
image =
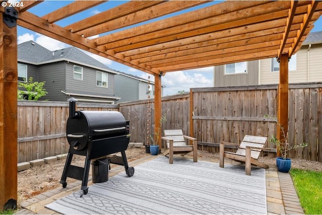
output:
[[[18,101],[18,163],[68,152],[68,102]],[[76,110],[118,111],[118,105],[76,103]]]

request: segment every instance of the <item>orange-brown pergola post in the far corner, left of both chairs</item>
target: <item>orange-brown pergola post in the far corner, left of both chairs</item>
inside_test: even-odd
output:
[[[161,149],[161,133],[160,119],[161,119],[161,76],[154,74],[154,140],[156,140],[156,135],[158,135],[157,144],[159,149]]]

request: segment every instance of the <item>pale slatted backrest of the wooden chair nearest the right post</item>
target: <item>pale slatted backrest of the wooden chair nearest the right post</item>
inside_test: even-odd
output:
[[[266,142],[267,142],[267,137],[259,137],[259,136],[251,136],[251,135],[246,135],[241,141],[238,150],[236,151],[236,154],[238,155],[243,155],[246,156],[246,146],[253,146],[253,147],[258,147],[258,148],[264,148]],[[258,159],[262,150],[260,149],[252,149],[252,158]]]

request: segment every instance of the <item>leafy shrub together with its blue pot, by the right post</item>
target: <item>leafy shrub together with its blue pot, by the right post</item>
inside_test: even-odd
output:
[[[276,167],[279,172],[288,172],[291,168],[292,160],[290,158],[287,158],[288,151],[296,148],[304,148],[308,144],[307,143],[301,143],[301,144],[295,144],[293,147],[290,146],[288,142],[288,132],[285,132],[284,128],[280,123],[277,123],[279,129],[282,131],[282,140],[278,140],[274,135],[272,135],[270,142],[276,145],[276,147],[279,149],[281,153],[281,157],[276,157]]]

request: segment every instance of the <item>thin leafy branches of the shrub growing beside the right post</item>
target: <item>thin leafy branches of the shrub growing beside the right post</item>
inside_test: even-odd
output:
[[[264,117],[276,119],[276,118],[269,117],[268,115],[266,115]],[[290,151],[292,149],[297,149],[297,148],[304,148],[308,145],[307,143],[304,142],[304,143],[300,143],[300,144],[295,144],[292,147],[288,141],[288,131],[285,131],[284,127],[279,122],[277,122],[277,126],[280,129],[280,131],[282,131],[283,138],[281,140],[279,140],[272,134],[270,142],[273,143],[274,145],[276,145],[277,149],[279,149],[281,156],[283,157],[284,160],[287,157],[288,151]]]

